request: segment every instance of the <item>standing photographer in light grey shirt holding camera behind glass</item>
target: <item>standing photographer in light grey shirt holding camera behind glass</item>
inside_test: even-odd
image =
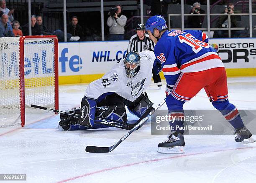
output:
[[[123,7],[121,5],[110,9],[107,21],[107,25],[110,27],[108,40],[124,40],[124,26],[127,18],[122,15],[122,12]]]

